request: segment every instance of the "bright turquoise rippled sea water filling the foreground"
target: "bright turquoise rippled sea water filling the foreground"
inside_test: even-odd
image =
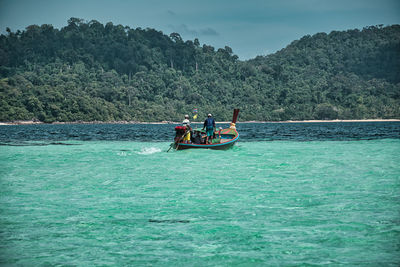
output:
[[[400,139],[43,144],[0,146],[1,265],[400,264]]]

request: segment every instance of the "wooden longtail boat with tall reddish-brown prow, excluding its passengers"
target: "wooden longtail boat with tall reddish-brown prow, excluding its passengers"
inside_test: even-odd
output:
[[[237,140],[239,140],[239,133],[236,130],[236,121],[239,115],[239,109],[233,111],[232,122],[229,128],[216,129],[214,131],[214,138],[210,144],[205,143],[206,131],[202,128],[193,129],[191,133],[191,140],[184,142],[183,139],[187,134],[187,130],[184,126],[175,127],[175,139],[174,143],[171,144],[175,150],[183,150],[189,148],[208,148],[208,149],[228,149],[232,147]]]

